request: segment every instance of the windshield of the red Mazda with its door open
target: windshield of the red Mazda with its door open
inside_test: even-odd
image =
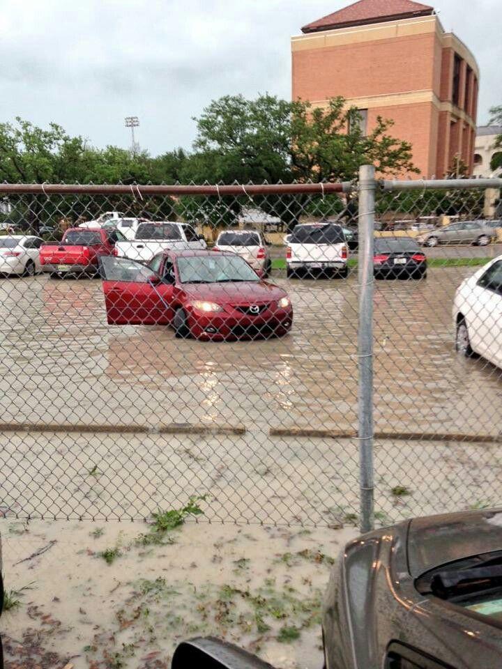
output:
[[[178,273],[183,284],[259,281],[257,274],[240,256],[181,256]]]

